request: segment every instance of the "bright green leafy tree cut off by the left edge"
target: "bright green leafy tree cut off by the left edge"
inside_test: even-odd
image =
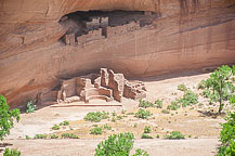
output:
[[[14,127],[13,118],[19,121],[19,109],[9,110],[6,99],[0,95],[0,140],[10,134],[10,129]]]

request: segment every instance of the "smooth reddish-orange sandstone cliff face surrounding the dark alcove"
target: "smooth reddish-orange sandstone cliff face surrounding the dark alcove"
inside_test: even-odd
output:
[[[152,11],[152,25],[65,44],[60,18],[75,11]],[[234,0],[2,0],[0,94],[12,106],[61,79],[108,67],[128,77],[235,63]]]

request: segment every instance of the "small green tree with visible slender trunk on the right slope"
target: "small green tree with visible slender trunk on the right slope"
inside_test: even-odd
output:
[[[219,95],[219,114],[223,109],[223,96],[227,95],[227,92],[234,89],[233,83],[230,81],[230,78],[234,75],[235,66],[232,68],[227,65],[223,65],[216,69],[210,78],[206,80],[208,89],[211,89],[214,94]]]

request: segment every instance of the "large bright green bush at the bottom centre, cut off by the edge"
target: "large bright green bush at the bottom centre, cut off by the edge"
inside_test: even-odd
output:
[[[129,156],[133,143],[132,133],[113,134],[97,145],[94,156]]]

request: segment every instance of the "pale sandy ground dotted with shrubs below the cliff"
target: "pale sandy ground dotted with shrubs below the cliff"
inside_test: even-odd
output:
[[[147,89],[147,100],[164,101],[164,108],[171,101],[183,95],[182,91],[177,90],[178,86],[184,83],[194,92],[198,82],[209,77],[209,74],[186,73],[180,75],[169,75],[143,79]],[[138,119],[128,113],[138,110],[139,102],[125,99],[123,102],[106,103],[104,101],[92,101],[90,105],[77,106],[83,103],[60,104],[43,107],[32,114],[22,114],[22,120],[12,129],[11,135],[4,142],[13,144],[11,148],[18,148],[23,156],[92,156],[99,142],[106,139],[112,133],[132,132],[136,139],[134,150],[141,147],[147,151],[151,156],[210,156],[216,155],[219,145],[218,136],[222,117],[207,116],[198,110],[217,110],[218,104],[209,105],[208,100],[199,98],[199,103],[186,108],[180,108],[170,114],[161,113],[159,108],[147,108],[153,113],[148,119]],[[113,105],[113,106],[101,106]],[[126,114],[121,114],[125,109]],[[110,118],[101,122],[84,121],[83,117],[89,112],[105,110],[117,113],[122,119],[113,122]],[[112,115],[109,115],[112,117]],[[53,125],[68,120],[68,127],[61,130],[52,130]],[[112,130],[105,130],[102,135],[90,134],[90,129],[94,125],[103,127],[108,125]],[[141,139],[145,126],[151,126],[152,140]],[[178,130],[185,135],[185,140],[165,140],[164,135],[170,131]],[[62,134],[75,133],[78,140],[26,140],[25,135],[34,136],[38,133]],[[160,139],[156,135],[159,134]],[[1,155],[2,153],[0,153]]]

